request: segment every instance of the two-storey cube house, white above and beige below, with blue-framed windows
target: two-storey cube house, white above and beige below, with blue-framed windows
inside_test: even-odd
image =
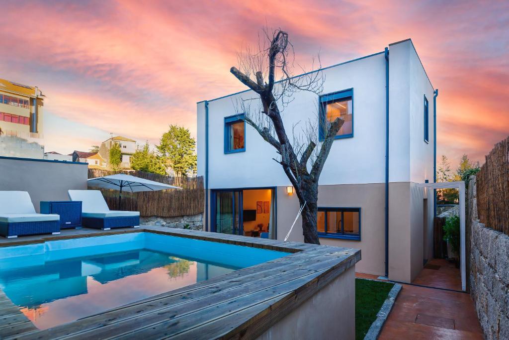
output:
[[[345,120],[319,180],[320,242],[361,249],[358,272],[411,282],[433,257],[433,195],[416,185],[434,181],[438,91],[410,39],[322,70],[323,95],[300,92],[282,115],[290,140],[292,124],[317,111]],[[283,240],[299,201],[272,160],[276,150],[233,104],[256,96],[246,90],[197,103],[204,229]],[[303,241],[300,218],[289,241]]]

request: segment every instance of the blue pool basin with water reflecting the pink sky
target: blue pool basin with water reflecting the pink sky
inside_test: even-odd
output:
[[[0,289],[39,329],[288,253],[147,232],[0,248]]]

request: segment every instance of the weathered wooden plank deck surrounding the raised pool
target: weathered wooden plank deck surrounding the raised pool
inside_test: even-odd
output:
[[[60,235],[0,239],[0,247],[51,240],[153,232],[171,236],[289,252],[257,266],[198,282],[46,330],[10,303],[9,321],[0,313],[2,339],[211,339],[256,338],[322,287],[353,267],[360,250],[156,226],[114,230],[71,229]],[[1,312],[2,309],[0,309]]]

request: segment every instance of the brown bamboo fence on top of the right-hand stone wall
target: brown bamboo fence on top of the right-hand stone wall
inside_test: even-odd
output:
[[[475,181],[480,222],[509,235],[509,137],[486,156]]]

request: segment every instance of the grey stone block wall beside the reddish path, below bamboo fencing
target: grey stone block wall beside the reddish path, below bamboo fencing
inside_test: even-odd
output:
[[[509,339],[509,237],[477,218],[475,178],[467,192],[470,294],[487,339]]]

